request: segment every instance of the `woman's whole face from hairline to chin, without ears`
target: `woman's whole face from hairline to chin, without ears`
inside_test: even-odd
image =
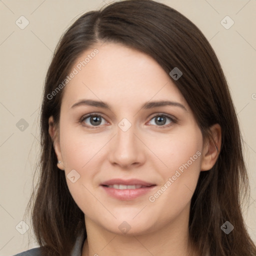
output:
[[[119,234],[156,231],[189,212],[203,164],[201,131],[153,58],[104,43],[79,70],[93,48],[64,88],[58,166],[85,221]]]

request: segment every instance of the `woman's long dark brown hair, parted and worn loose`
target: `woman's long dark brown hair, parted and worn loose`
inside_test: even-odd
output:
[[[201,171],[191,199],[189,239],[198,255],[249,256],[256,247],[246,230],[242,199],[248,198],[248,177],[236,113],[219,61],[201,31],[178,11],[152,0],[114,2],[81,15],[62,35],[47,71],[41,107],[41,157],[38,183],[29,200],[32,225],[45,255],[69,255],[80,233],[86,238],[84,213],[74,202],[48,133],[48,118],[58,123],[58,90],[77,57],[98,42],[118,42],[153,57],[169,73],[193,111],[203,136],[214,123],[221,126],[219,157]],[[52,94],[51,94],[52,95]],[[229,234],[220,226],[229,221]]]

